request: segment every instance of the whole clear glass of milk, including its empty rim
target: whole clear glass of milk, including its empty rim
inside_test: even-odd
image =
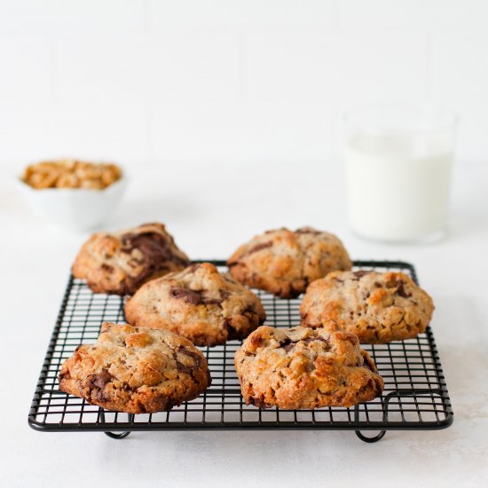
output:
[[[397,242],[444,237],[457,116],[378,106],[350,112],[345,121],[352,231]]]

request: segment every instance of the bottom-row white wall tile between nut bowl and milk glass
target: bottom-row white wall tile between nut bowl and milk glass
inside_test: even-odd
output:
[[[315,102],[153,106],[151,153],[162,161],[331,161],[331,114]]]

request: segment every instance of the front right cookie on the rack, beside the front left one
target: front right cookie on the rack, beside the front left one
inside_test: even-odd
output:
[[[259,327],[235,354],[242,397],[261,408],[352,406],[382,394],[374,361],[358,337],[335,324]]]

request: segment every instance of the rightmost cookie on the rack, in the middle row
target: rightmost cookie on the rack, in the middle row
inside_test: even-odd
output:
[[[432,298],[403,272],[331,272],[308,287],[300,306],[303,326],[333,321],[371,344],[416,337],[433,311]]]

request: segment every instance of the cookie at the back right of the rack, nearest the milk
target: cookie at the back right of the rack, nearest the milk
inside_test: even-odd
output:
[[[351,267],[348,253],[335,235],[310,227],[264,232],[240,246],[227,265],[240,283],[281,298],[294,298],[327,272]]]

